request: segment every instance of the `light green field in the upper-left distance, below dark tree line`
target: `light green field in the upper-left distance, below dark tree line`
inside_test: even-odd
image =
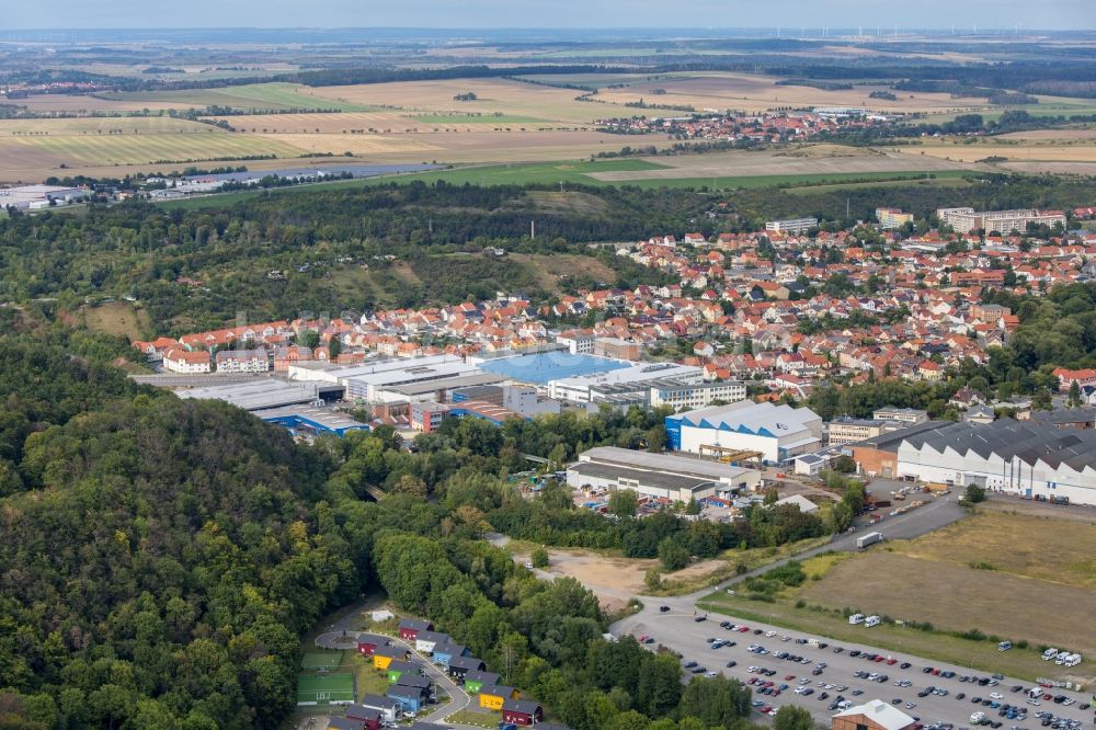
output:
[[[96,94],[106,101],[169,104],[169,109],[231,106],[238,110],[338,109],[343,112],[368,111],[367,106],[342,102],[318,89],[297,83],[249,83],[219,89],[180,89],[172,91],[117,91]]]

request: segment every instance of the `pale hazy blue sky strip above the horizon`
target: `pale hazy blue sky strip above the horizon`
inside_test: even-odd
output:
[[[0,0],[0,28],[1096,28],[1096,0]]]

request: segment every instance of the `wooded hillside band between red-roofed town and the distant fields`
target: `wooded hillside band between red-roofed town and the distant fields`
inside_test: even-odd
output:
[[[92,207],[83,216],[15,215],[0,220],[0,300],[56,298],[55,306],[71,310],[85,299],[134,297],[156,322],[149,334],[221,327],[241,310],[252,320],[293,318],[300,312],[458,301],[499,289],[524,292],[541,301],[559,290],[543,289],[528,264],[493,256],[453,264],[452,258],[435,256],[479,253],[495,246],[513,252],[580,253],[613,269],[616,281],[576,277],[571,287],[631,287],[666,278],[582,243],[692,230],[706,236],[757,230],[766,219],[796,215],[844,226],[870,219],[880,205],[899,204],[918,216],[960,204],[1071,208],[1096,199],[1096,181],[1017,175],[993,176],[962,189],[911,182],[902,187],[796,194],[743,190],[719,196],[592,187],[571,191],[574,197],[566,198],[571,205],[551,206],[543,204],[539,194],[545,192],[418,182],[301,190],[190,212],[132,202]],[[706,215],[724,201],[733,215]],[[529,240],[534,219],[538,237]],[[418,282],[396,275],[387,255],[409,262]]]

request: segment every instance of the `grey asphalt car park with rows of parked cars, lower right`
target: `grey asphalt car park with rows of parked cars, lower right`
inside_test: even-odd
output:
[[[1055,719],[1062,719],[1059,728],[1068,728],[1066,723],[1071,720],[1082,723],[1074,727],[1088,728],[1092,727],[1094,719],[1094,710],[1087,706],[1092,699],[1091,692],[1082,694],[1044,688],[1042,693],[1050,694],[1050,699],[1044,699],[1040,695],[1039,699],[1028,703],[1026,692],[1034,687],[1030,682],[1007,677],[994,680],[982,671],[941,664],[901,653],[883,652],[876,659],[868,659],[863,654],[874,654],[877,650],[866,643],[835,643],[823,637],[811,637],[755,621],[746,621],[745,630],[742,630],[741,621],[717,614],[711,614],[707,620],[697,621],[690,613],[681,612],[680,606],[671,606],[669,612],[660,613],[655,601],[651,601],[636,616],[617,624],[614,627],[615,631],[636,637],[649,636],[653,640],[647,645],[649,648],[654,649],[662,645],[680,652],[683,664],[696,662],[696,666],[686,669],[687,672],[698,675],[720,672],[750,684],[754,689],[755,711],[764,707],[772,707],[775,710],[784,705],[798,705],[806,707],[818,720],[829,725],[830,718],[837,712],[836,709],[830,709],[832,704],[838,697],[843,697],[854,705],[869,699],[881,699],[887,703],[898,700],[897,707],[917,718],[924,726],[950,723],[955,728],[969,728],[973,725],[971,715],[974,712],[983,712],[987,721],[1001,722],[1001,728],[1009,730],[1012,728],[1036,730],[1053,725],[1053,721],[1043,725],[1043,718],[1036,717],[1037,712],[1052,712]],[[727,626],[720,627],[720,621]],[[734,629],[733,625],[739,625],[738,629]],[[865,639],[870,637],[870,630],[864,629]],[[708,639],[731,643],[712,649]],[[810,640],[827,646],[823,648],[801,643]],[[750,651],[753,645],[760,646],[767,653]],[[789,657],[778,658],[778,654],[784,652]],[[797,662],[792,661],[792,657],[801,659]],[[729,663],[733,665],[728,666]],[[750,671],[750,668],[755,668],[755,671]],[[926,673],[926,668],[939,673]],[[941,674],[952,672],[955,673],[952,676]],[[856,676],[857,673],[860,673],[860,676]],[[875,680],[869,678],[871,674],[878,676]],[[962,681],[964,676],[974,676],[984,680],[985,683],[964,682]],[[765,682],[773,683],[764,687],[767,692],[779,694],[761,694],[760,685]],[[784,685],[786,687],[780,689]],[[929,686],[939,694],[925,693]],[[798,687],[810,687],[811,692],[796,694]],[[921,694],[924,696],[918,696]],[[1073,704],[1055,704],[1053,697],[1060,695],[1073,699]],[[974,698],[980,702],[975,704],[972,702]],[[996,704],[997,707],[984,703]],[[1026,719],[1002,717],[1000,711],[1005,705],[1027,710]]]

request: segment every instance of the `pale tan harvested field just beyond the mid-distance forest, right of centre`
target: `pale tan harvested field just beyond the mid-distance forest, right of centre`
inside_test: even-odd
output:
[[[604,182],[638,180],[672,180],[677,178],[749,178],[800,176],[826,174],[855,174],[880,172],[932,172],[970,167],[949,163],[932,156],[912,156],[901,152],[877,152],[857,149],[847,155],[827,153],[824,157],[792,157],[773,152],[720,152],[659,158],[666,166],[661,170],[595,172],[591,176]]]

